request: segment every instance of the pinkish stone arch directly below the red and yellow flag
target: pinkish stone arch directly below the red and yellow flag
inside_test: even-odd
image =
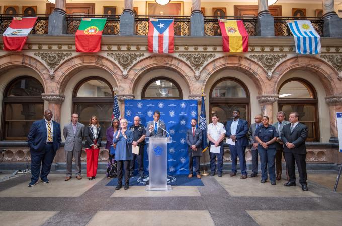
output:
[[[266,88],[270,85],[268,83],[273,85],[273,82],[266,79],[267,71],[259,64],[243,56],[229,55],[211,61],[202,69],[200,72],[200,80],[203,80],[201,88],[204,90],[209,78],[224,69],[233,69],[246,74],[257,87],[260,87],[259,95],[268,94],[269,90]]]

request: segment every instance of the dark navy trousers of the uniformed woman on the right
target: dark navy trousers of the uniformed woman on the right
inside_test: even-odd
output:
[[[276,156],[275,148],[259,147],[258,152],[260,156],[261,179],[267,180],[267,171],[269,171],[270,181],[276,181],[276,168],[274,166],[274,158]]]

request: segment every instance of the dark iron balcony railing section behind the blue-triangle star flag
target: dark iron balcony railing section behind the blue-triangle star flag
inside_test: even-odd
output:
[[[148,19],[149,18],[163,18],[174,19],[174,34],[188,36],[190,35],[190,16],[160,16],[160,15],[137,15],[135,16],[135,34],[148,34]]]

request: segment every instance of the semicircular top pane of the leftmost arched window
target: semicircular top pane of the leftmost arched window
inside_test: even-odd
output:
[[[36,79],[23,78],[11,85],[7,97],[12,96],[41,96],[43,86]]]

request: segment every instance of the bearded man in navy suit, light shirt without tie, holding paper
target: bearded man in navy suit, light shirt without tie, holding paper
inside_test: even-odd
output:
[[[248,133],[248,123],[247,121],[240,119],[240,111],[233,111],[233,119],[227,121],[226,125],[226,135],[228,138],[231,138],[235,145],[229,145],[230,156],[231,156],[231,173],[230,176],[233,177],[236,175],[236,163],[237,156],[239,156],[240,160],[240,169],[242,176],[241,179],[247,178],[247,167],[246,167],[246,158],[245,158],[245,150],[248,144],[247,133]]]

